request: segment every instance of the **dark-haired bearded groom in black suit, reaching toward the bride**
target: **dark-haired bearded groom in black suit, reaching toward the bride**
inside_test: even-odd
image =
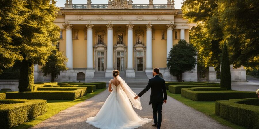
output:
[[[153,74],[153,78],[149,79],[148,85],[146,86],[146,88],[143,89],[143,91],[141,91],[135,97],[135,99],[138,99],[138,97],[141,97],[144,93],[146,93],[146,91],[148,91],[151,88],[149,105],[152,103],[153,118],[154,118],[154,124],[152,124],[152,126],[157,126],[157,129],[160,129],[161,122],[162,122],[162,105],[163,103],[166,103],[166,99],[167,99],[165,80],[158,76],[159,74],[158,68],[154,68],[152,74]],[[157,112],[158,112],[158,119],[157,119]]]

